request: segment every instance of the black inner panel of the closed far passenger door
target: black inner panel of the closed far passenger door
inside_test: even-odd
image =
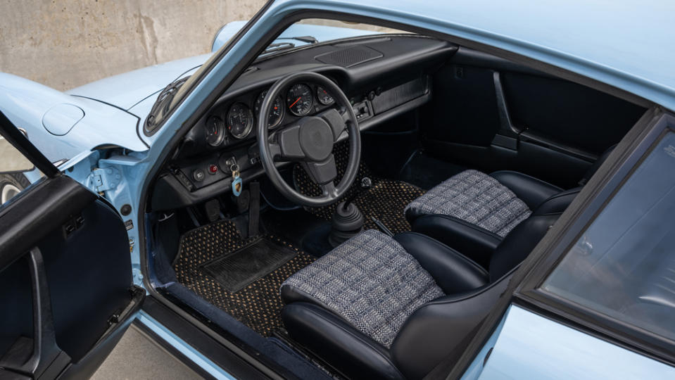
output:
[[[645,109],[486,53],[460,48],[434,76],[424,148],[479,170],[518,170],[564,188]]]

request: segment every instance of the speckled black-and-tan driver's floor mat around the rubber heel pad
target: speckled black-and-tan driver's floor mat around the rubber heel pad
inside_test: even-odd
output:
[[[193,229],[181,236],[174,270],[180,284],[198,296],[232,315],[239,322],[262,336],[272,336],[283,324],[282,299],[279,287],[291,274],[315,260],[277,236],[265,236],[275,246],[284,246],[295,253],[277,269],[244,286],[239,291],[228,291],[201,268],[216,258],[223,258],[256,242],[241,239],[234,224],[220,221]]]

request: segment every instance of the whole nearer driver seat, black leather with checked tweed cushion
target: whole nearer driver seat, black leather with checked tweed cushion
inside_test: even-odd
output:
[[[291,338],[352,379],[421,379],[461,352],[559,214],[532,215],[488,270],[415,232],[367,230],[286,279]]]

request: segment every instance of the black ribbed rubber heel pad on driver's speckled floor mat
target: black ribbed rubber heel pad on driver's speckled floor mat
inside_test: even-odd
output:
[[[236,293],[297,254],[290,248],[263,238],[228,255],[205,262],[201,270],[218,281],[225,290]]]

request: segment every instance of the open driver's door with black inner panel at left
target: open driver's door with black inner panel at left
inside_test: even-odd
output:
[[[125,225],[2,113],[0,134],[44,175],[0,205],[0,379],[86,379],[145,297]]]

